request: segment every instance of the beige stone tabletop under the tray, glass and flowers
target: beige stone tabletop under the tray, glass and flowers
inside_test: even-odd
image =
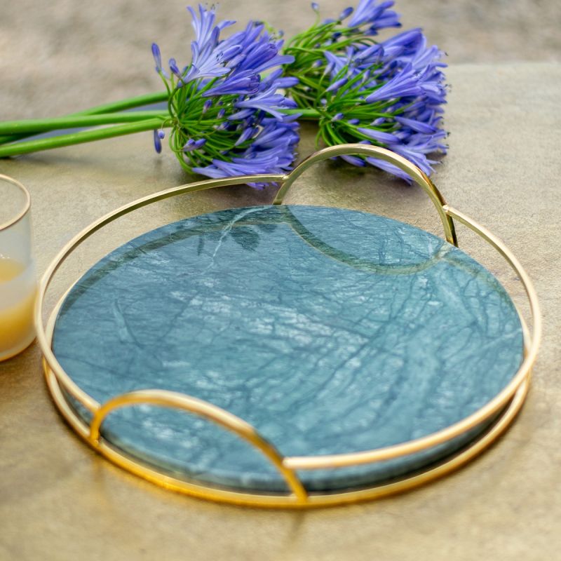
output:
[[[456,65],[449,76],[450,154],[435,182],[452,205],[510,245],[543,306],[545,334],[532,390],[506,435],[461,471],[390,499],[300,513],[207,503],[139,480],[84,445],[50,401],[34,344],[0,365],[1,560],[561,557],[561,66]],[[305,155],[313,130],[303,133]],[[0,160],[0,173],[32,193],[39,271],[104,212],[191,180],[173,156],[152,152],[147,134]],[[140,211],[92,238],[62,269],[55,288],[158,223],[272,196],[272,190],[217,189]],[[370,210],[438,232],[420,189],[372,170],[325,163],[306,173],[289,199]],[[459,239],[520,295],[501,259],[462,227]]]

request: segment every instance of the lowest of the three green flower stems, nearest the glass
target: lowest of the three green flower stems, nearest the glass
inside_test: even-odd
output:
[[[156,128],[159,128],[161,124],[161,119],[143,119],[142,121],[138,121],[136,123],[114,125],[111,127],[96,128],[94,130],[83,130],[79,133],[41,138],[39,140],[28,140],[27,142],[15,142],[15,144],[5,144],[4,146],[0,146],[0,158],[5,158],[6,156],[18,156],[19,154],[29,154],[30,152],[40,150],[60,148],[71,144],[92,142],[93,140],[102,140],[104,138],[130,135],[133,133],[140,133],[143,130],[155,130]]]

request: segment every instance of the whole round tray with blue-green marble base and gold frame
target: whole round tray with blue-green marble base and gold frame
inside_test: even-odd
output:
[[[304,170],[341,154],[409,173],[445,241],[365,212],[282,204]],[[77,280],[43,327],[55,272],[105,224],[255,181],[280,184],[273,205],[133,239]],[[454,219],[520,276],[531,331],[499,281],[457,248]],[[62,248],[36,306],[50,392],[95,450],[163,487],[290,508],[382,496],[465,464],[520,409],[540,321],[510,250],[414,165],[364,144],[323,149],[290,175],[196,182],[110,212]]]

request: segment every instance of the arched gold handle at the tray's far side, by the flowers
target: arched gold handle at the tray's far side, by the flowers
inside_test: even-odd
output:
[[[297,165],[294,170],[288,175],[286,180],[278,189],[273,205],[280,205],[283,203],[283,199],[288,192],[288,189],[292,187],[294,183],[302,173],[307,169],[311,168],[312,165],[328,158],[333,158],[334,156],[343,156],[344,154],[363,154],[364,156],[372,156],[374,158],[379,158],[386,162],[396,165],[400,170],[404,171],[411,177],[411,179],[417,183],[431,199],[433,205],[438,212],[440,220],[442,221],[442,227],[444,227],[444,234],[446,241],[454,245],[458,245],[456,238],[456,231],[454,229],[454,221],[452,217],[446,214],[444,206],[447,204],[440,191],[435,187],[435,184],[428,179],[427,175],[417,168],[417,165],[412,164],[407,159],[403,158],[399,154],[392,152],[386,148],[381,148],[377,146],[371,146],[370,144],[339,144],[339,146],[330,146],[317,151],[306,158],[302,163]]]

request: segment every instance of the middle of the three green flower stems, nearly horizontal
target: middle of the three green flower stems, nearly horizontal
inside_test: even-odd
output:
[[[166,119],[161,111],[130,111],[128,113],[103,113],[100,115],[81,115],[56,117],[54,119],[29,119],[26,121],[5,121],[0,123],[1,134],[45,133],[63,128],[91,127],[114,123],[134,123],[144,119]]]

